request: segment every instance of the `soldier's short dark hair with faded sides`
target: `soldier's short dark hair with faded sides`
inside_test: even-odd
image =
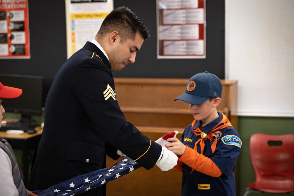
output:
[[[118,31],[121,42],[134,40],[139,32],[145,40],[150,37],[149,30],[139,16],[125,6],[112,10],[104,19],[96,37],[104,37],[107,33]]]

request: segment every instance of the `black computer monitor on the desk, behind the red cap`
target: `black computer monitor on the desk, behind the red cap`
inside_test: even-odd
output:
[[[21,88],[23,91],[18,98],[3,100],[6,112],[20,113],[20,122],[26,124],[32,123],[32,115],[41,115],[44,77],[0,74],[0,82],[4,86]]]

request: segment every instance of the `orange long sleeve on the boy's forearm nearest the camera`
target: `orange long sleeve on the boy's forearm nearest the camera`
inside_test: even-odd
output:
[[[198,172],[204,173],[206,175],[219,177],[223,173],[210,158],[199,154],[197,150],[194,150],[188,146],[186,146],[186,150],[183,155],[178,156],[178,158],[178,161],[181,161],[186,165],[194,168]]]

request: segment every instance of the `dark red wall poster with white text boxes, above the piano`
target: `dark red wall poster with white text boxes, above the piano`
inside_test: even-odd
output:
[[[157,58],[206,58],[205,0],[157,0]]]

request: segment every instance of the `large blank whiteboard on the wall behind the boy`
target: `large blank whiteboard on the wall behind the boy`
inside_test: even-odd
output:
[[[294,117],[294,1],[225,1],[225,78],[238,115]]]

